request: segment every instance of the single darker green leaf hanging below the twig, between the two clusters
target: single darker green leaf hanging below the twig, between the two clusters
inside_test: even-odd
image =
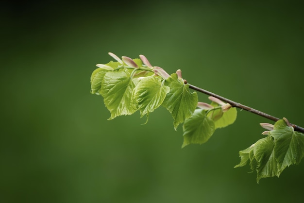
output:
[[[185,120],[183,125],[184,143],[183,147],[189,144],[205,143],[215,131],[214,121],[206,117],[205,110],[196,109],[190,118]]]

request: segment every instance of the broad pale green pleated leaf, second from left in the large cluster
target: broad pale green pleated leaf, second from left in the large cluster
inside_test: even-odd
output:
[[[107,72],[101,82],[101,95],[105,106],[111,112],[111,117],[131,115],[136,109],[132,105],[131,95],[137,79],[131,79],[127,69]]]

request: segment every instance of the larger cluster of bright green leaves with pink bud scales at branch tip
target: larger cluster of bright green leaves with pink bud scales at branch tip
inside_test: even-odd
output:
[[[91,75],[91,93],[103,97],[111,113],[109,119],[132,115],[139,110],[140,116],[147,116],[163,106],[172,115],[173,126],[184,123],[184,143],[202,144],[218,128],[226,127],[236,120],[236,108],[210,97],[211,104],[198,102],[196,92],[190,92],[181,70],[169,75],[160,67],[152,67],[147,58],[123,56],[117,62],[98,64]]]

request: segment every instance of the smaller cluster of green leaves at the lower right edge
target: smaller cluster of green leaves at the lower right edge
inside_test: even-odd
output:
[[[274,126],[261,123],[269,131],[249,148],[239,152],[241,161],[236,167],[249,162],[257,172],[256,181],[261,178],[279,177],[282,171],[293,164],[299,164],[304,157],[304,134],[296,132],[286,118],[278,120]]]

